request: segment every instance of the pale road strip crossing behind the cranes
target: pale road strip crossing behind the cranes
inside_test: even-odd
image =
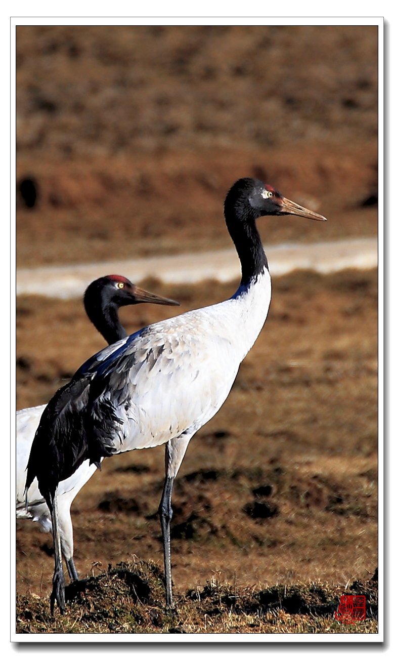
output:
[[[264,246],[271,275],[292,270],[315,270],[322,274],[378,266],[378,239],[366,238],[335,243],[282,244]],[[16,295],[45,295],[67,299],[80,297],[93,279],[118,274],[139,283],[155,277],[164,283],[198,283],[204,279],[232,281],[240,277],[235,249],[178,256],[154,256],[127,261],[81,266],[59,266],[16,270]]]

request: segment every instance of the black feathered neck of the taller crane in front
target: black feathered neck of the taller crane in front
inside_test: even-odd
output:
[[[233,203],[227,196],[225,201],[225,220],[227,229],[237,250],[241,270],[241,285],[253,283],[264,268],[268,270],[266,252],[262,246],[260,234],[256,227],[253,210],[246,204]]]

